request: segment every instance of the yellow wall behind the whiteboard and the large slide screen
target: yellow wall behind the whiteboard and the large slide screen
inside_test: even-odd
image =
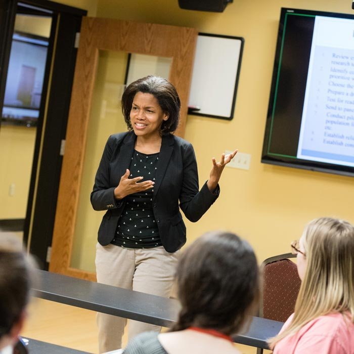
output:
[[[281,7],[352,13],[347,0],[235,0],[224,13],[181,10],[177,0],[99,0],[98,17],[195,27],[200,32],[242,36],[245,47],[232,121],[189,116],[185,138],[197,155],[201,183],[211,158],[238,148],[252,155],[250,170],[227,168],[220,198],[196,224],[201,233],[227,229],[247,238],[259,260],[289,251],[308,220],[334,215],[354,222],[352,178],[260,163]]]

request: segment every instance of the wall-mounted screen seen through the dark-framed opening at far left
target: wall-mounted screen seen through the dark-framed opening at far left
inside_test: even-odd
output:
[[[48,43],[46,37],[13,34],[2,111],[4,123],[37,125]]]

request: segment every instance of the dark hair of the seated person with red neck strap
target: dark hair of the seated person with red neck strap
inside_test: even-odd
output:
[[[235,334],[259,299],[259,272],[248,242],[228,232],[210,232],[182,253],[176,271],[179,319],[171,331],[191,326]]]

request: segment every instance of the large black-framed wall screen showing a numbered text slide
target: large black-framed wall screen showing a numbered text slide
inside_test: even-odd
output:
[[[354,176],[354,16],[281,9],[261,161]]]

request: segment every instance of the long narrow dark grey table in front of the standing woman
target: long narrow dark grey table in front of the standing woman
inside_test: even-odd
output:
[[[131,320],[171,327],[178,318],[178,300],[141,293],[47,271],[37,271],[39,284],[33,295]],[[279,333],[283,323],[253,317],[248,331],[234,336],[236,343],[267,349],[267,339]]]

